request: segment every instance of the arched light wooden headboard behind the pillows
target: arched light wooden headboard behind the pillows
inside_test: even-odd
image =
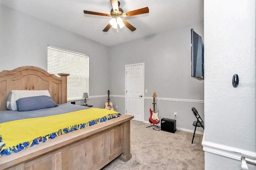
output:
[[[7,110],[6,101],[12,90],[49,90],[56,103],[67,103],[67,76],[50,74],[34,66],[18,67],[0,72],[0,110]]]

